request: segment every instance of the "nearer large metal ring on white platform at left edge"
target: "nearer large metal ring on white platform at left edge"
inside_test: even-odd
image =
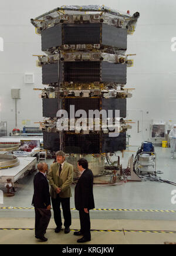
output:
[[[16,156],[0,154],[0,169],[8,169],[19,166],[19,160]]]

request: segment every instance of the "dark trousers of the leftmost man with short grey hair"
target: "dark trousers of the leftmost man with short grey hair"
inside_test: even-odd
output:
[[[35,208],[35,236],[43,237],[48,228],[48,224],[51,218],[51,211]]]

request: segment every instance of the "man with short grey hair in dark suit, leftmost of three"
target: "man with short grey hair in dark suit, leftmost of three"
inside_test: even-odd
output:
[[[39,172],[33,180],[34,194],[32,205],[35,207],[35,237],[43,242],[48,241],[45,237],[46,230],[51,218],[51,204],[49,184],[46,178],[48,164],[39,163]]]

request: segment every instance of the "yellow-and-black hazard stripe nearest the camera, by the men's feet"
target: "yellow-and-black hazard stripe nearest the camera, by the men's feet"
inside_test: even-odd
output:
[[[0,228],[0,231],[34,231],[34,228]],[[49,228],[49,230],[54,230]],[[71,229],[71,231],[79,231]],[[92,232],[105,233],[148,233],[148,234],[176,234],[176,231],[162,231],[162,230],[91,230]]]

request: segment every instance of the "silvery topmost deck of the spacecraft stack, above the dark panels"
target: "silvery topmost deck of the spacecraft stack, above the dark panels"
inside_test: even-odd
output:
[[[36,27],[38,33],[59,23],[104,23],[116,28],[127,29],[127,33],[133,33],[139,16],[138,12],[131,16],[104,5],[63,5],[31,19],[31,23]]]

